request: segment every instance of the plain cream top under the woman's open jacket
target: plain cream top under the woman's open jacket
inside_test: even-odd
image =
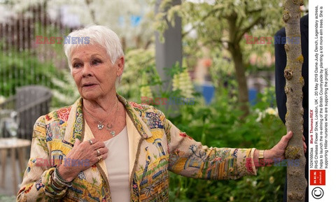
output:
[[[112,201],[129,202],[131,196],[127,127],[120,131],[117,136],[104,141],[104,143],[109,149],[105,164],[109,173]]]

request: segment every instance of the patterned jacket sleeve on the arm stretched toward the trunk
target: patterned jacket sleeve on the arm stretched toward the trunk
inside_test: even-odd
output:
[[[237,179],[256,175],[255,148],[207,147],[195,141],[156,110],[162,120],[169,149],[169,171],[189,178],[207,180]]]

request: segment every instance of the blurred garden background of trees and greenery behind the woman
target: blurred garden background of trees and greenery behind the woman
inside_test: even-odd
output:
[[[35,120],[78,99],[62,44],[90,24],[123,43],[126,99],[193,99],[151,105],[204,145],[272,147],[286,133],[274,91],[282,9],[276,0],[0,0],[0,201],[15,201]],[[285,175],[279,166],[230,181],[172,173],[170,201],[282,201]]]

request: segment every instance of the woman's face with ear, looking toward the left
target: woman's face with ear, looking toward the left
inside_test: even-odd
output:
[[[80,96],[97,101],[116,92],[116,79],[123,73],[124,57],[112,64],[104,48],[82,45],[72,52],[71,68]]]

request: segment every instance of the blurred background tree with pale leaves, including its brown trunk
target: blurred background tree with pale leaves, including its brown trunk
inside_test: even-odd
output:
[[[182,27],[188,27],[182,34],[183,52],[190,59],[185,59],[188,65],[195,65],[195,55],[198,58],[207,57],[214,61],[211,75],[216,87],[227,82],[223,74],[235,67],[236,80],[246,80],[246,72],[255,72],[259,68],[272,71],[272,61],[269,64],[260,59],[258,65],[249,65],[251,55],[263,56],[265,52],[273,51],[270,44],[248,44],[246,36],[271,37],[283,27],[281,24],[281,3],[276,0],[218,0],[218,1],[181,1],[174,5],[172,0],[160,1],[160,9],[156,15],[155,29],[161,34],[174,26],[174,18],[181,17]],[[209,51],[204,51],[209,50]],[[197,58],[196,57],[196,58]],[[235,63],[232,64],[232,59]],[[237,61],[242,61],[240,64]],[[211,66],[211,68],[212,68]],[[188,66],[190,68],[190,66]],[[234,75],[230,73],[230,75]],[[238,78],[239,77],[239,78]],[[238,105],[245,109],[248,100],[246,82],[237,82],[239,87]]]

